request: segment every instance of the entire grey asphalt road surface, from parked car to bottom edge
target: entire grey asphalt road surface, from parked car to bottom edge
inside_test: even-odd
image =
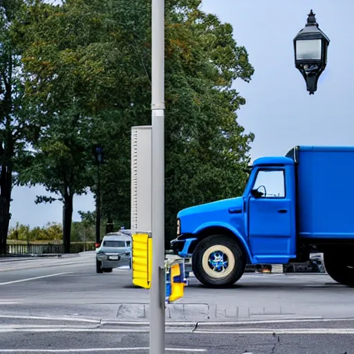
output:
[[[192,279],[185,297],[167,306],[166,346],[174,353],[354,353],[353,295],[326,274],[245,274],[222,290]],[[92,252],[0,261],[0,354],[148,353],[148,303],[129,270],[96,274]]]

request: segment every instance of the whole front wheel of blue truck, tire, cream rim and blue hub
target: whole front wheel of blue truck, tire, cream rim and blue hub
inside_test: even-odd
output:
[[[192,268],[196,279],[205,286],[230,286],[242,277],[245,256],[232,238],[212,235],[196,246]]]

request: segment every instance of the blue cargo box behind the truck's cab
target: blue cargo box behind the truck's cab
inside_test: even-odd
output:
[[[354,239],[354,147],[295,147],[300,238]]]

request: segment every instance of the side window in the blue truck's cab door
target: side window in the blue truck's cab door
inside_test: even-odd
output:
[[[259,188],[260,187],[260,188]],[[259,170],[253,189],[264,193],[261,198],[285,198],[285,174],[283,170]]]

